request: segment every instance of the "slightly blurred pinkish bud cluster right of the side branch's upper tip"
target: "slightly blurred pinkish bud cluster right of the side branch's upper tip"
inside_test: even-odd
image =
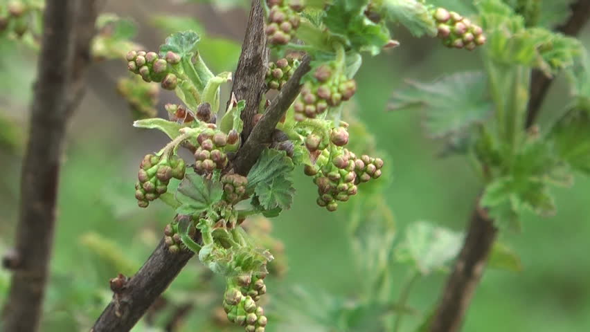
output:
[[[335,73],[336,64],[322,64],[314,71],[315,80],[305,82],[301,95],[293,104],[295,120],[315,118],[328,107],[337,107],[357,91],[357,83],[342,73]]]

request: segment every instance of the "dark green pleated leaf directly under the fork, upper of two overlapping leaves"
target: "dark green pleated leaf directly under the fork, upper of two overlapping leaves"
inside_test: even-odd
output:
[[[270,184],[274,178],[289,178],[294,167],[285,151],[265,149],[250,169],[247,191],[253,192],[261,183]]]

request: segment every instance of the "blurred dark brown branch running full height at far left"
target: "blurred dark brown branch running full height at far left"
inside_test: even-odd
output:
[[[82,98],[94,1],[48,0],[29,140],[21,174],[16,247],[4,259],[12,270],[3,308],[5,331],[37,331],[55,229],[55,203],[66,126]]]

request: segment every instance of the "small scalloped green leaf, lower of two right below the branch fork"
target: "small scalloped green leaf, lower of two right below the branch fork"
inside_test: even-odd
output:
[[[293,203],[293,196],[295,194],[295,188],[293,183],[287,178],[274,177],[271,181],[260,183],[254,189],[260,205],[265,210],[273,210],[275,208],[281,208],[287,210],[291,208]]]

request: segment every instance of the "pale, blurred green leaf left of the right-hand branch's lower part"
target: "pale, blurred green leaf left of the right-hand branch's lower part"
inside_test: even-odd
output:
[[[422,275],[444,270],[461,249],[463,234],[432,223],[418,221],[406,229],[406,236],[395,251],[398,261],[409,262]]]

